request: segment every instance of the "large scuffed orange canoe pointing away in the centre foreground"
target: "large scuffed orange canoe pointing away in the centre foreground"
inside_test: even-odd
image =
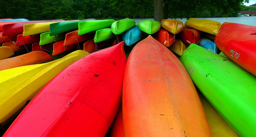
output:
[[[133,48],[126,63],[123,126],[129,137],[212,136],[185,68],[151,36]]]

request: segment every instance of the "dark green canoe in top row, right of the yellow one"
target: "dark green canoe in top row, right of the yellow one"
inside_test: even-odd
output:
[[[95,19],[86,19],[95,20]],[[50,24],[50,36],[54,36],[67,31],[77,30],[78,23],[86,20],[69,20]]]

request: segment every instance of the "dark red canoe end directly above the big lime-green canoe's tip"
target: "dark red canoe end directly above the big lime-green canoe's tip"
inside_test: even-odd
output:
[[[177,38],[187,44],[198,44],[200,41],[200,33],[194,29],[184,29],[177,34]]]

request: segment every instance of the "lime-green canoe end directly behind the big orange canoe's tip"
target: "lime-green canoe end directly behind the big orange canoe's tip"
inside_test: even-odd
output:
[[[147,34],[154,34],[161,28],[161,24],[155,20],[142,20],[138,23],[139,29]]]

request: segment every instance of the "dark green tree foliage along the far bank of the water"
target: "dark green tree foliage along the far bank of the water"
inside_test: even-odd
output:
[[[256,10],[244,6],[249,0],[164,0],[168,17],[230,17],[239,11]],[[0,18],[135,18],[153,17],[154,0],[0,0]],[[115,19],[116,20],[116,19]]]

